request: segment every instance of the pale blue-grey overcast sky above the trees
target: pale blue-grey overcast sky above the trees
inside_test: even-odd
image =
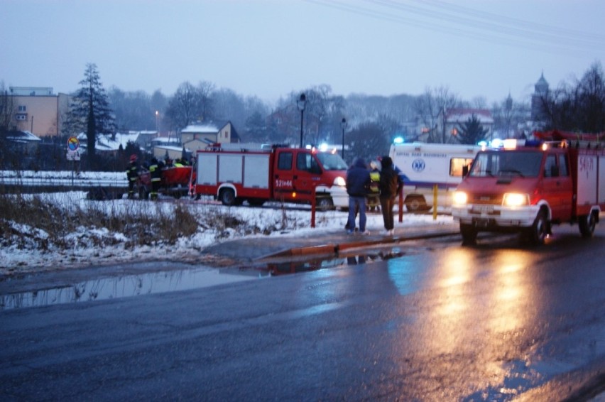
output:
[[[0,0],[0,81],[72,92],[95,63],[106,89],[168,96],[446,86],[491,104],[602,63],[604,16],[602,0]]]

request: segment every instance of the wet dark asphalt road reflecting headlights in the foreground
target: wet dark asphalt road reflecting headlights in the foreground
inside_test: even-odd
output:
[[[0,399],[557,401],[605,382],[604,229],[556,228],[538,249],[496,237],[401,251],[1,311]]]

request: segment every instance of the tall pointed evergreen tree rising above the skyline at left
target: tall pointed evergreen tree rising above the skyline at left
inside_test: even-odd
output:
[[[97,65],[88,63],[84,79],[80,81],[80,89],[76,92],[67,112],[67,129],[70,134],[86,131],[87,154],[89,164],[96,160],[95,146],[99,134],[115,136],[114,115],[109,107],[105,89],[101,85]]]

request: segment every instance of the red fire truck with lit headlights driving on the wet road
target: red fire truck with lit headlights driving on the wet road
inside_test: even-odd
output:
[[[518,232],[522,244],[541,244],[564,222],[592,237],[605,208],[605,133],[534,136],[474,158],[452,205],[464,244],[474,244],[478,232]]]

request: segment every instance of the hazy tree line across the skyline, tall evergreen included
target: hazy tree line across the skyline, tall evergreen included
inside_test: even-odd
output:
[[[540,102],[545,121],[543,128],[570,131],[605,131],[605,83],[600,63],[594,63],[580,80],[565,82],[545,94]],[[329,85],[302,90],[307,98],[304,111],[306,143],[343,140],[347,156],[377,156],[386,153],[395,136],[413,139],[415,127],[429,128],[427,141],[446,142],[445,130],[434,130],[442,113],[458,107],[489,108],[485,99],[472,102],[460,99],[447,87],[427,88],[420,96],[406,94],[380,97],[333,94]],[[210,82],[198,85],[183,82],[175,94],[166,97],[159,90],[124,92],[116,87],[105,91],[97,66],[88,64],[80,89],[75,92],[67,115],[67,133],[87,134],[89,161],[95,162],[94,144],[99,133],[153,130],[178,132],[196,121],[229,120],[242,141],[298,143],[300,110],[296,100],[301,92],[290,92],[273,107],[257,97],[241,97],[231,89],[217,89]],[[0,97],[0,131],[6,133],[11,119],[11,97]],[[491,110],[496,131],[508,136],[518,123],[528,119],[528,104],[513,104],[510,97]],[[346,117],[345,132],[342,119]],[[486,130],[476,116],[460,124],[457,139],[476,143]],[[0,141],[4,136],[0,135]],[[3,143],[0,142],[0,145]],[[349,159],[347,158],[347,159]]]

